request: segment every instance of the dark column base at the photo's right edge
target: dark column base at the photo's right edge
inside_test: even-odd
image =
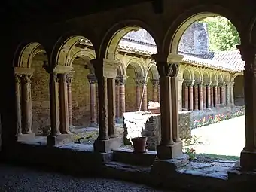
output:
[[[245,151],[242,150],[240,157],[240,166],[242,169],[254,170],[256,169],[256,151]]]

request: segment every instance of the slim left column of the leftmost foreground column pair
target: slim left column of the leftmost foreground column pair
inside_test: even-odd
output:
[[[15,74],[15,93],[16,93],[16,105],[17,105],[17,133],[18,136],[22,135],[21,126],[21,103],[20,103],[20,78],[21,75]]]

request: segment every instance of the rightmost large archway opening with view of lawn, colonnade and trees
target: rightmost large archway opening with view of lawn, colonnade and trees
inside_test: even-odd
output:
[[[239,32],[233,23],[211,13],[188,18],[172,37],[170,51],[184,56],[181,61],[184,66],[181,67],[184,78],[182,108],[183,111],[188,108],[191,123],[186,127],[191,130],[191,135],[184,138],[189,143],[184,150],[196,149],[200,154],[239,158],[245,143],[239,142],[238,146],[236,140],[243,140],[240,130],[245,134],[245,121],[244,108],[242,105],[235,107],[233,102],[233,76],[244,70],[244,62],[236,50],[237,44],[240,44]],[[192,75],[187,75],[187,68]],[[237,120],[242,126],[237,129],[236,136],[230,137],[229,132],[234,131],[230,129]],[[220,141],[220,136],[223,136],[221,144],[216,142]],[[227,140],[233,146],[227,145]]]

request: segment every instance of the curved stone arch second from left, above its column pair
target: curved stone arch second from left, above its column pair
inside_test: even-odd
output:
[[[68,38],[60,38],[53,50],[56,54],[52,53],[51,55],[52,65],[72,66],[74,54],[79,51],[75,51],[75,47],[81,45],[80,48],[83,49],[83,46],[86,47],[85,44],[89,42],[90,40],[82,35],[71,35]]]

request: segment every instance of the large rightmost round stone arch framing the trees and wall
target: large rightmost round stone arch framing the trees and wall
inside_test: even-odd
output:
[[[219,5],[199,5],[184,11],[184,14],[171,24],[163,42],[163,52],[178,53],[178,44],[186,29],[197,20],[214,16],[226,17],[235,26],[239,37],[242,37],[242,24],[233,13]]]

